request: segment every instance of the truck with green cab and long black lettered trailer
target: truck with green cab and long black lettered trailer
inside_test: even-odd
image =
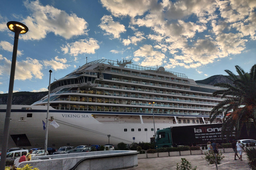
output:
[[[221,139],[222,124],[200,124],[189,126],[174,126],[156,131],[156,148],[177,147],[180,145],[200,146],[215,140],[217,143],[227,143],[227,139]],[[252,125],[250,134],[247,135],[245,125],[241,135],[236,137],[235,130],[231,134],[231,139],[256,139],[256,129]]]

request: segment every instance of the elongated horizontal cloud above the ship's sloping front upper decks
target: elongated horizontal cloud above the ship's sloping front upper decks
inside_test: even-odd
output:
[[[68,43],[61,47],[64,54],[69,53],[70,55],[77,56],[78,54],[95,54],[95,50],[99,49],[98,41],[90,39],[81,39],[75,43]]]

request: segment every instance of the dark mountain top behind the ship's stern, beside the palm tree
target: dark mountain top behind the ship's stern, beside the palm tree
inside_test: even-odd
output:
[[[226,78],[224,75],[213,75],[210,78],[204,80],[197,80],[197,83],[214,85],[217,83],[229,83],[232,84],[232,81]]]

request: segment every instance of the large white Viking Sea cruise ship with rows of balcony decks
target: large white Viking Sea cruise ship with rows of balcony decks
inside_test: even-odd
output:
[[[164,67],[131,60],[86,63],[50,86],[48,147],[150,142],[154,131],[172,126],[207,124],[222,99],[219,90]],[[48,95],[33,105],[12,105],[11,147],[44,147]],[[0,105],[0,147],[6,105]],[[221,123],[219,115],[215,123]],[[154,129],[155,128],[155,129]]]

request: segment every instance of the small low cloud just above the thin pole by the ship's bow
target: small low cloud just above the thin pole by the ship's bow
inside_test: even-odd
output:
[[[43,63],[45,66],[50,66],[53,70],[63,70],[63,69],[67,69],[67,67],[69,67],[69,64],[65,64],[67,62],[66,58],[58,58],[58,56],[56,56],[54,58],[54,60],[44,60]]]

